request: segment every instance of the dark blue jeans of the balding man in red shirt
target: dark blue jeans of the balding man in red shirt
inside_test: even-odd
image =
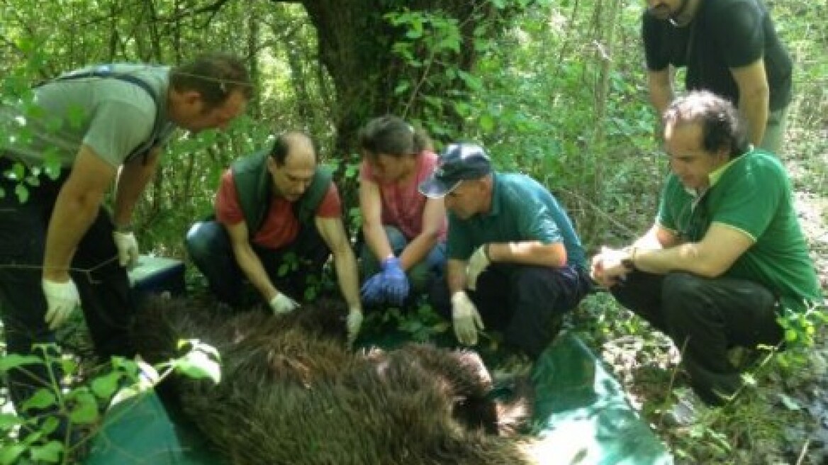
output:
[[[238,267],[230,237],[221,223],[212,220],[195,223],[187,232],[185,246],[219,301],[234,308],[248,304],[243,293],[247,277]],[[277,250],[255,244],[251,247],[273,285],[300,301],[304,300],[306,288],[318,282],[330,257],[330,248],[313,225],[302,225],[296,240],[286,247]]]

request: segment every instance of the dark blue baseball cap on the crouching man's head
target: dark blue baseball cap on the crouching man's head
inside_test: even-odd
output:
[[[479,180],[492,172],[492,161],[483,147],[476,144],[450,144],[440,154],[434,172],[420,183],[420,193],[440,199],[457,189],[460,182]]]

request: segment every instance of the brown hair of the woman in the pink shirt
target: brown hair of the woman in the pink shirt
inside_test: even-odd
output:
[[[419,155],[421,151],[432,150],[431,139],[425,131],[415,129],[394,115],[375,117],[369,121],[359,131],[359,147],[364,155],[372,158],[380,154]]]

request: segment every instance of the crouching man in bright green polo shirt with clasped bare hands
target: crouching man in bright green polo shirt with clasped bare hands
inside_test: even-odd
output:
[[[821,303],[821,291],[790,180],[749,146],[733,104],[689,93],[663,122],[672,174],[656,223],[630,247],[604,247],[592,276],[673,339],[693,391],[720,405],[741,386],[728,349],[779,343],[782,309]]]

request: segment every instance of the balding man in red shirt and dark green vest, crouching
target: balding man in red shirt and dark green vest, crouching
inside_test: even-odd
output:
[[[275,314],[299,306],[307,278],[320,276],[333,252],[349,338],[359,333],[359,276],[339,192],[305,134],[287,132],[272,150],[235,161],[222,176],[215,219],[195,223],[186,247],[220,301],[241,306],[246,279]]]

